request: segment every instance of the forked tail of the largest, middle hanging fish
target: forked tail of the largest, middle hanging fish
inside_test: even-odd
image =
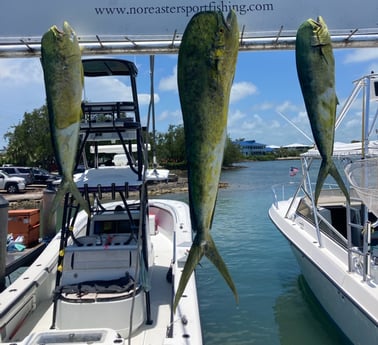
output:
[[[218,252],[217,247],[215,246],[214,240],[211,237],[209,237],[206,244],[200,244],[200,241],[197,240],[197,236],[198,234],[196,235],[196,238],[193,241],[193,245],[190,248],[188,258],[185,262],[184,271],[182,273],[180,283],[176,292],[175,300],[173,303],[173,310],[176,311],[178,302],[182,294],[184,293],[185,286],[188,283],[188,280],[192,275],[194,269],[196,268],[197,264],[202,259],[203,255],[205,255],[222,274],[228,286],[234,293],[236,303],[239,303],[239,296],[236,291],[235,284],[232,281],[231,275],[228,272],[226,264],[224,263],[222,257]]]

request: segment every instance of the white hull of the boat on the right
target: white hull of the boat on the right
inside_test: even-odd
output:
[[[284,217],[276,206],[269,210],[269,216],[277,229],[287,239],[299,264],[300,270],[316,299],[330,318],[353,344],[377,344],[378,322],[369,314],[362,303],[374,305],[369,293],[364,293],[361,277],[347,271],[347,266],[338,260],[331,260],[327,248],[311,241],[308,229],[302,224]],[[315,231],[315,230],[314,230]],[[357,296],[353,298],[352,296]]]

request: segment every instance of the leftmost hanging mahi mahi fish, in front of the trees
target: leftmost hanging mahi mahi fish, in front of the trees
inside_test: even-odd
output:
[[[64,194],[70,192],[89,213],[88,203],[73,180],[82,116],[84,76],[78,39],[67,22],[63,24],[63,31],[52,26],[43,35],[41,54],[51,138],[62,175],[62,183],[52,209],[56,210]]]

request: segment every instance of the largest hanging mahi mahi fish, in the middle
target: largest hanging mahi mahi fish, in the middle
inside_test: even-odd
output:
[[[237,18],[199,12],[182,37],[177,82],[188,163],[189,206],[196,232],[175,296],[174,309],[195,267],[205,255],[238,301],[231,275],[210,235],[227,134],[227,114],[239,48]]]

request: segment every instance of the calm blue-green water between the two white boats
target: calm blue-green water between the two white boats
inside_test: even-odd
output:
[[[239,293],[239,305],[212,264],[197,269],[206,345],[349,344],[308,290],[286,240],[268,217],[271,186],[299,161],[243,163],[225,171],[212,234]],[[186,195],[177,198],[186,199]]]

